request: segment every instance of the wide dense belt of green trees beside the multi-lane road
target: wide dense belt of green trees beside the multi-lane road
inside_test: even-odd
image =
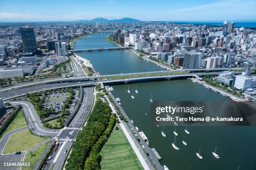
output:
[[[102,136],[110,121],[110,107],[101,100],[96,100],[87,125],[83,127],[67,159],[66,170],[83,170],[92,147]]]

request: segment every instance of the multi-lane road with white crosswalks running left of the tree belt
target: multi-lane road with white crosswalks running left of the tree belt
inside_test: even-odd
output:
[[[92,109],[93,102],[93,88],[84,88],[84,98],[81,107],[79,108],[72,122],[69,124],[69,127],[65,128],[58,137],[59,142],[63,143],[64,141],[67,141],[67,143],[63,143],[63,148],[58,147],[57,150],[54,153],[52,153],[52,158],[49,161],[49,163],[46,164],[44,170],[49,170],[49,168],[52,166],[54,166],[54,170],[60,170],[62,168],[67,156],[67,153],[64,153],[64,150],[69,151],[71,149],[73,143],[70,143],[70,140],[74,140],[74,138],[76,138],[80,129],[84,125],[84,121],[87,119],[90,110]],[[57,154],[58,152],[59,154]],[[56,162],[54,160],[56,160]]]

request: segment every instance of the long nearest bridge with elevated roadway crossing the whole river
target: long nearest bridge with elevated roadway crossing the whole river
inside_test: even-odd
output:
[[[198,75],[218,75],[220,72],[144,72],[144,73],[131,73],[120,75],[105,75],[94,77],[75,77],[59,80],[48,80],[45,82],[36,82],[27,85],[21,85],[17,87],[11,87],[9,89],[0,90],[0,98],[8,100],[13,97],[19,97],[31,92],[39,92],[44,90],[51,90],[56,88],[65,87],[79,87],[79,86],[92,86],[103,83],[132,83],[138,80],[155,81],[159,79],[170,80],[176,77],[196,77],[200,80]],[[234,72],[233,74],[241,74],[241,72]]]

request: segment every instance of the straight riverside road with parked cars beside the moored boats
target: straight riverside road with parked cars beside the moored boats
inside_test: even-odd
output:
[[[125,111],[123,110],[123,108],[118,104],[118,102],[115,100],[115,97],[112,95],[112,93],[108,90],[108,88],[106,88],[106,90],[108,91],[110,97],[112,98],[112,100],[115,102],[115,105],[120,109],[120,112],[122,115],[125,116],[125,118],[127,119],[127,124],[124,123],[126,130],[128,131],[129,135],[131,136],[131,138],[133,138],[134,143],[136,144],[136,147],[138,148],[139,152],[141,153],[141,155],[143,155],[144,160],[146,161],[148,167],[150,169],[154,169],[153,166],[151,165],[150,160],[147,158],[146,153],[149,154],[148,157],[153,159],[153,163],[155,163],[155,168],[157,170],[162,170],[162,165],[159,163],[159,161],[156,159],[156,157],[154,156],[154,154],[152,153],[151,149],[148,147],[148,145],[146,144],[146,142],[141,138],[141,136],[139,135],[138,131],[136,130],[135,126],[133,125],[133,123],[131,122],[131,120],[129,119],[129,117],[126,115]],[[138,135],[138,137],[135,137],[131,131],[131,128],[136,132],[136,134]],[[141,141],[142,145],[145,146],[145,149],[143,150],[141,148],[141,145],[138,143],[137,138]],[[145,153],[145,152],[146,153]]]

